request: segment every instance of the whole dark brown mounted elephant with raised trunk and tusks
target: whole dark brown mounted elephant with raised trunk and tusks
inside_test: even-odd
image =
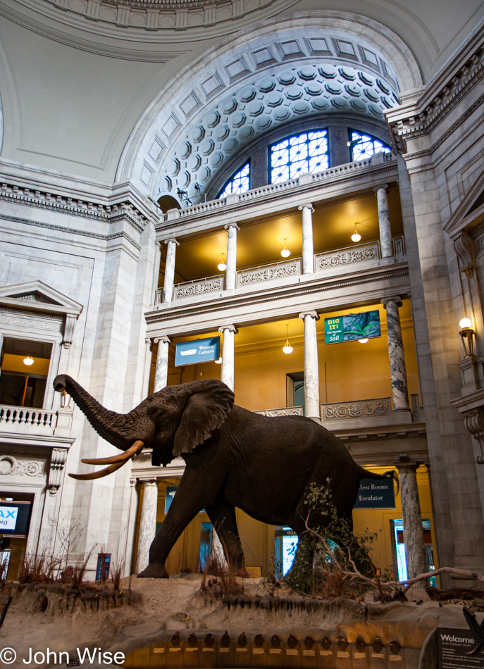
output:
[[[70,476],[105,476],[144,446],[153,449],[153,465],[167,465],[177,456],[185,460],[185,473],[141,577],[168,577],[166,558],[202,508],[230,564],[243,574],[236,506],[263,523],[289,525],[300,536],[306,530],[304,499],[311,482],[325,485],[329,478],[337,513],[351,519],[361,478],[381,480],[386,475],[361,468],[337,437],[310,418],[269,418],[236,406],[233,392],[216,379],[163,388],[125,415],[108,411],[69,376],[56,377],[54,387],[73,396],[94,430],[125,451],[112,458],[83,460],[109,466]],[[323,522],[321,516],[310,520],[314,527]]]

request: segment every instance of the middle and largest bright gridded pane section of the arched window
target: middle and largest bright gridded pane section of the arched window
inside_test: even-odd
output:
[[[286,137],[269,150],[271,184],[294,179],[300,173],[329,167],[328,130],[311,130]]]

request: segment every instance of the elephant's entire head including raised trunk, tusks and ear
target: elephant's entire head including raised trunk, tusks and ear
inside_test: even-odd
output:
[[[108,411],[70,376],[58,375],[54,388],[72,396],[94,430],[124,451],[111,458],[82,460],[109,466],[91,474],[70,474],[80,480],[111,474],[144,446],[153,449],[154,465],[166,465],[181,454],[189,454],[223,425],[234,404],[233,392],[216,379],[163,388],[125,414]]]

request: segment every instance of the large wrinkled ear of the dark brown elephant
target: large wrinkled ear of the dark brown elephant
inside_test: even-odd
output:
[[[173,456],[192,453],[208,439],[213,430],[222,427],[234,406],[234,394],[225,383],[212,379],[199,382],[187,400],[180,425],[175,432]]]

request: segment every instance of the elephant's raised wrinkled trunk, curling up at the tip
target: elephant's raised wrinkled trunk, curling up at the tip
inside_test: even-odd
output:
[[[54,379],[54,388],[70,394],[94,430],[116,448],[127,451],[138,440],[148,446],[153,439],[155,426],[144,412],[144,403],[126,414],[109,411],[66,374]]]

